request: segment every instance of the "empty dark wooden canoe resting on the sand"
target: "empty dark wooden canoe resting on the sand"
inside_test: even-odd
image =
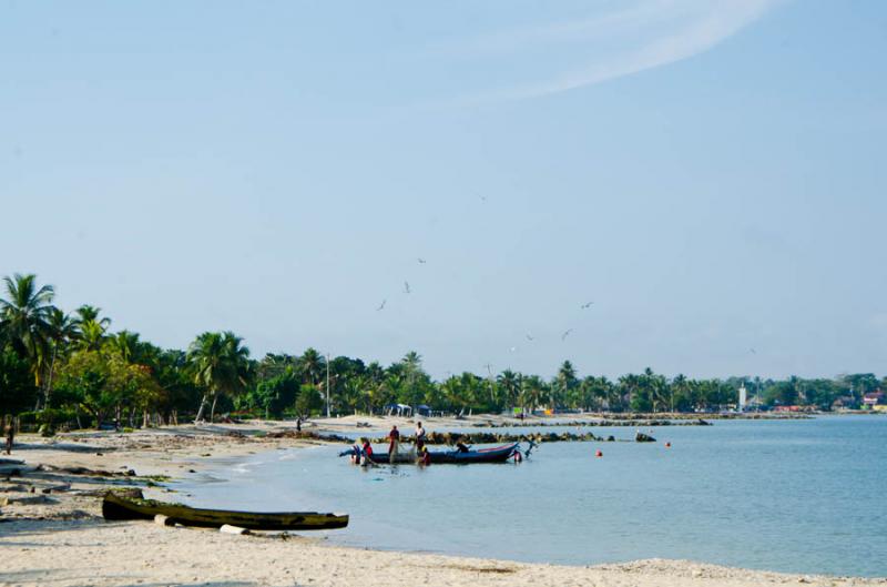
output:
[[[154,519],[159,514],[166,516],[173,523],[205,528],[218,528],[227,524],[251,530],[328,530],[348,525],[347,514],[201,509],[182,504],[128,497],[114,492],[108,492],[102,500],[102,515],[106,520]]]

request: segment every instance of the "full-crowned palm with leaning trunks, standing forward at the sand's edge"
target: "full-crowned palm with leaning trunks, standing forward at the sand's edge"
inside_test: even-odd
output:
[[[204,332],[191,343],[188,362],[194,366],[194,382],[206,392],[201,399],[195,422],[203,419],[207,394],[212,395],[210,422],[215,417],[220,393],[235,395],[246,387],[249,375],[249,350],[242,346],[243,338],[232,332]]]

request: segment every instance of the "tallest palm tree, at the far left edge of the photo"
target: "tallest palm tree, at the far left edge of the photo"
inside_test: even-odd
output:
[[[0,298],[0,330],[20,356],[27,357],[34,384],[40,387],[41,372],[50,340],[49,317],[53,310],[52,285],[37,287],[37,276],[16,273],[3,277],[7,300]]]

